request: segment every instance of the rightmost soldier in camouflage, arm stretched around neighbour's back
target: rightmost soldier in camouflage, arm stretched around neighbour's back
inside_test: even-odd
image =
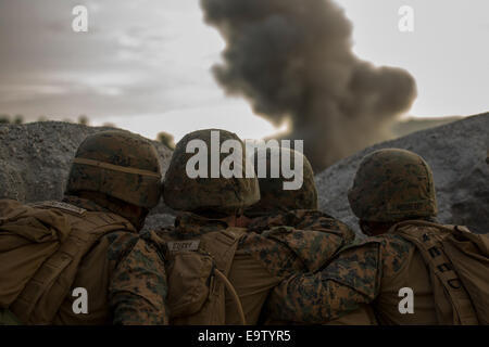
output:
[[[371,304],[381,324],[450,321],[453,312],[436,307],[422,255],[397,232],[398,226],[411,228],[409,222],[437,215],[427,163],[404,150],[374,152],[361,163],[348,197],[361,229],[371,237],[342,250],[322,271],[284,282],[274,292],[271,311],[291,321],[322,323]],[[423,232],[427,229],[439,232],[427,227]],[[413,290],[414,313],[399,310],[403,287]]]

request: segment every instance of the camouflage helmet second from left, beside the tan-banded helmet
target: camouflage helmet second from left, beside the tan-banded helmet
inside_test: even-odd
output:
[[[192,140],[197,140],[197,142]],[[237,178],[236,176],[224,178],[222,172],[218,177],[211,177],[213,154],[218,154],[217,158],[220,160],[216,164],[220,168],[223,159],[229,156],[229,154],[221,153],[221,145],[227,140],[238,141],[241,146],[241,159],[240,163],[235,163],[237,166],[234,169],[235,172],[241,172],[242,178]],[[205,152],[201,149],[198,154],[187,153],[187,145],[191,144],[190,142],[202,144],[202,146],[205,146]],[[217,145],[218,147],[215,147]],[[202,155],[202,153],[204,154]],[[205,160],[205,163],[199,162],[199,171],[203,172],[203,175],[190,177],[187,171],[187,164],[189,159],[199,154]],[[235,133],[220,129],[190,132],[177,143],[175,152],[173,152],[172,162],[164,180],[164,202],[177,210],[213,210],[235,214],[237,210],[248,207],[260,200],[256,177],[251,175],[251,178],[246,178],[246,163],[244,145]],[[204,165],[204,167],[201,167],[201,165]]]

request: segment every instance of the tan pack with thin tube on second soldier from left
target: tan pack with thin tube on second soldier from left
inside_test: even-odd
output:
[[[227,279],[244,232],[244,229],[228,228],[195,240],[166,240],[171,324],[224,325],[226,290],[241,323],[246,324],[238,294]]]

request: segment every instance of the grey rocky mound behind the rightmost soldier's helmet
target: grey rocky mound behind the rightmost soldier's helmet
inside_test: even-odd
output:
[[[413,151],[431,166],[440,222],[489,232],[489,113],[379,143],[338,162],[316,176],[319,208],[359,232],[347,192],[363,156],[386,147]]]

